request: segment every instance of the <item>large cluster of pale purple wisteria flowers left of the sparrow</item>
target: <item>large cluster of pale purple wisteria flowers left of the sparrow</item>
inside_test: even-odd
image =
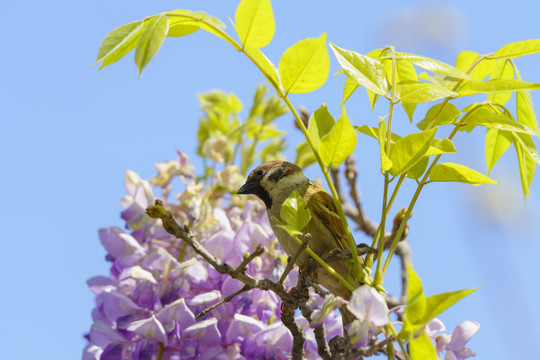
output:
[[[108,277],[88,281],[96,307],[83,359],[287,358],[293,340],[280,321],[279,297],[253,289],[196,319],[241,289],[242,283],[218,273],[166,233],[161,220],[145,215],[156,198],[153,190],[169,195],[172,179],[179,177],[185,189],[168,207],[190,224],[205,248],[238,266],[244,254],[262,245],[267,251],[251,261],[245,272],[256,279],[277,281],[286,258],[261,204],[227,199],[242,179],[238,169],[229,166],[207,178],[206,184],[198,182],[193,166],[180,152],[178,160],[157,168],[159,173],[150,182],[132,171],[126,174],[128,195],[122,199],[122,218],[127,230],[111,227],[99,231],[111,272]],[[286,287],[295,284],[295,276],[293,270]],[[305,356],[317,358],[310,325],[303,318],[297,320],[306,333]],[[328,338],[341,335],[336,312],[330,312],[324,323]]]

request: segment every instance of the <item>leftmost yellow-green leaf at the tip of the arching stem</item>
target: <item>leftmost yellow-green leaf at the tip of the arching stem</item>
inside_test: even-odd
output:
[[[94,65],[103,61],[99,67],[110,65],[120,60],[135,48],[143,30],[144,21],[135,21],[117,27],[105,36],[99,47],[97,60]]]

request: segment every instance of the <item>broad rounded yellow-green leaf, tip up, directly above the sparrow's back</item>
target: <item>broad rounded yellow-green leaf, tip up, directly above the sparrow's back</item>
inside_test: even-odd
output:
[[[286,93],[303,94],[318,89],[325,83],[329,71],[326,33],[297,42],[279,61],[279,75]]]

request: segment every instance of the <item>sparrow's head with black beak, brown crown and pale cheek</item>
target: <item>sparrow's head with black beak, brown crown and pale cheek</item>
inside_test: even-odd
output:
[[[306,181],[302,169],[287,161],[270,161],[257,166],[248,176],[238,194],[253,194],[264,201],[268,209],[275,199],[288,197]]]

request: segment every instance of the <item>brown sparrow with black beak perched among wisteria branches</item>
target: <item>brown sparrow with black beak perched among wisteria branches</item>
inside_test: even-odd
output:
[[[253,194],[264,202],[274,234],[287,255],[293,256],[300,245],[284,229],[277,226],[272,217],[284,223],[280,216],[281,206],[294,190],[298,191],[311,212],[311,219],[302,230],[304,234],[311,235],[308,247],[320,257],[336,249],[349,249],[347,234],[332,196],[316,182],[304,176],[302,169],[297,165],[286,161],[264,163],[249,174],[246,183],[237,193]],[[308,258],[309,254],[302,251],[295,263],[301,266],[307,262]],[[348,278],[349,267],[345,261],[332,261],[328,265],[345,279]],[[345,300],[350,299],[351,291],[335,276],[322,267],[316,271],[318,283],[332,294],[341,296]],[[354,316],[344,306],[340,308],[340,311],[344,326],[354,320]]]

